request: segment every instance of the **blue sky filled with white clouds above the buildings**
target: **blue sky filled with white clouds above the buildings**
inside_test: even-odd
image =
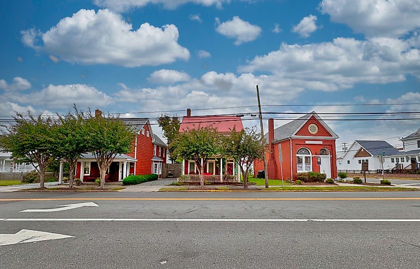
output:
[[[2,116],[66,112],[73,103],[109,112],[253,105],[256,84],[263,104],[313,105],[265,111],[420,109],[322,105],[420,101],[419,0],[52,3],[2,1]],[[328,123],[338,143],[391,137],[396,145],[420,127],[418,120]]]

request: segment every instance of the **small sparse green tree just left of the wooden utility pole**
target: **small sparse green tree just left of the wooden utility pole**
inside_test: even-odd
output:
[[[235,159],[241,169],[244,188],[248,189],[248,175],[255,160],[262,160],[265,147],[261,143],[261,134],[256,128],[245,128],[237,132],[234,128],[223,139],[223,154]]]

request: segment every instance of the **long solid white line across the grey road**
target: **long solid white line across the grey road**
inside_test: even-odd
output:
[[[117,218],[5,218],[0,221],[162,221],[162,222],[420,222],[420,219],[117,219]]]

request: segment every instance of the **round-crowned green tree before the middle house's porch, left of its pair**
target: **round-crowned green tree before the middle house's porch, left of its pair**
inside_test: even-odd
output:
[[[184,160],[194,160],[202,188],[204,188],[204,167],[210,158],[221,153],[221,139],[216,128],[198,126],[178,133],[171,143],[174,156]]]

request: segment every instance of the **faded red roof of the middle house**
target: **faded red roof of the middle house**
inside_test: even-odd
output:
[[[240,117],[236,116],[184,116],[182,117],[179,132],[188,129],[212,126],[217,128],[219,133],[230,133],[234,127],[237,131],[242,131],[244,125]]]

